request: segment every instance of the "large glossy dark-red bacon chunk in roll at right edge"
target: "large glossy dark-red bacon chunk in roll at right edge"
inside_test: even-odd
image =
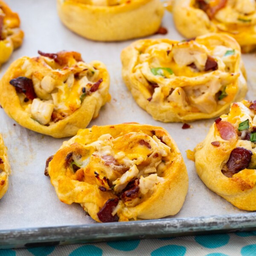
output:
[[[227,170],[222,170],[222,173],[227,177],[232,177],[234,174],[246,169],[249,166],[252,155],[252,151],[246,148],[233,149],[226,164]]]

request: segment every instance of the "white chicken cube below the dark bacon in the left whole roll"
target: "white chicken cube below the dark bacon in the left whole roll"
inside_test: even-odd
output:
[[[41,101],[33,99],[31,105],[32,118],[38,121],[41,125],[46,125],[50,122],[54,105],[52,101]]]

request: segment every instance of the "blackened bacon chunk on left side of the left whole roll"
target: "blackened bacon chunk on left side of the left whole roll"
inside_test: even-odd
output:
[[[10,81],[10,84],[15,87],[17,93],[24,93],[28,99],[35,99],[37,96],[35,94],[34,85],[32,79],[24,76],[19,76]]]

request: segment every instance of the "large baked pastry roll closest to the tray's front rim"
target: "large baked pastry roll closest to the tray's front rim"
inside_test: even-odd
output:
[[[98,222],[175,215],[188,189],[186,166],[166,130],[125,123],[80,130],[47,159],[61,202]]]

